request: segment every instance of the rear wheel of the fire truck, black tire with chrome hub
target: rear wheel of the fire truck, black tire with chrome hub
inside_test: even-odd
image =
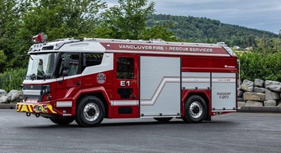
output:
[[[190,96],[185,103],[184,121],[189,123],[199,123],[207,116],[206,101],[198,95]]]

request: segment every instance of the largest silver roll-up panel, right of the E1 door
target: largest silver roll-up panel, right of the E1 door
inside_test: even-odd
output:
[[[180,58],[140,58],[140,114],[143,116],[180,113]]]

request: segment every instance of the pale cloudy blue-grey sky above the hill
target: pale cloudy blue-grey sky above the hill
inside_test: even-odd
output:
[[[117,0],[106,0],[108,7]],[[151,1],[148,1],[151,2]],[[207,17],[222,23],[279,33],[281,0],[154,0],[155,14]]]

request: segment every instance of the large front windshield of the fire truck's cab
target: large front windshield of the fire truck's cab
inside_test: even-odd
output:
[[[52,78],[58,53],[30,55],[27,80],[45,80]]]

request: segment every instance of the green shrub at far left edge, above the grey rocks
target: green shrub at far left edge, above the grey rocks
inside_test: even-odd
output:
[[[13,89],[20,90],[26,73],[27,69],[25,68],[11,68],[4,73],[0,73],[0,89],[7,92]]]

